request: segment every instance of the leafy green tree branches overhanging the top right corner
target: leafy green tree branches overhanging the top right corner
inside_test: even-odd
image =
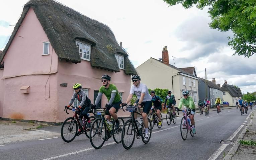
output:
[[[231,30],[228,45],[235,54],[245,57],[256,53],[256,1],[255,0],[164,0],[169,6],[182,4],[184,8],[196,5],[209,7],[209,27],[226,32]]]

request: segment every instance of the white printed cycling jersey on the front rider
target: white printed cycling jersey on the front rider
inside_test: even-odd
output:
[[[145,96],[144,96],[144,99],[142,100],[142,102],[147,102],[147,101],[152,100],[152,97],[151,97],[151,95],[149,94],[149,91],[148,91],[148,87],[143,83],[140,83],[140,86],[138,88],[135,85],[132,85],[130,93],[131,94],[136,94],[138,99],[141,98],[142,93],[145,93]]]

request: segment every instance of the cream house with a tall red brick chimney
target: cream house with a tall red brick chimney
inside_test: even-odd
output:
[[[136,68],[141,77],[141,83],[150,89],[161,88],[172,91],[179,103],[182,91],[188,90],[194,103],[198,104],[198,78],[180,68],[169,64],[167,47],[163,48],[162,59],[150,58]],[[167,93],[166,93],[167,95]]]

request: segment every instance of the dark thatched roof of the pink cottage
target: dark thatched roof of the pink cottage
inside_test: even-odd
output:
[[[110,28],[96,20],[53,0],[30,0],[24,5],[20,19],[0,55],[2,62],[28,10],[32,8],[60,60],[81,62],[76,40],[90,43],[93,67],[119,72],[115,54],[124,56],[124,72],[137,74],[128,54],[118,45]]]

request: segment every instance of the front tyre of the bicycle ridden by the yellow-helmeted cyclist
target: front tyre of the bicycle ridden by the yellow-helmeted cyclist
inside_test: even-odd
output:
[[[71,120],[71,121],[68,122],[69,120]],[[73,123],[72,128],[70,128],[70,124],[72,124],[72,123]],[[75,129],[74,129],[74,125],[76,127]],[[67,132],[64,132],[63,131],[64,129],[67,129]],[[75,118],[69,117],[63,122],[63,124],[61,126],[61,138],[63,139],[63,141],[69,143],[75,139],[77,130],[78,130],[77,121],[75,120]],[[67,137],[65,135],[67,135]],[[68,137],[70,137],[70,139],[68,139]]]

